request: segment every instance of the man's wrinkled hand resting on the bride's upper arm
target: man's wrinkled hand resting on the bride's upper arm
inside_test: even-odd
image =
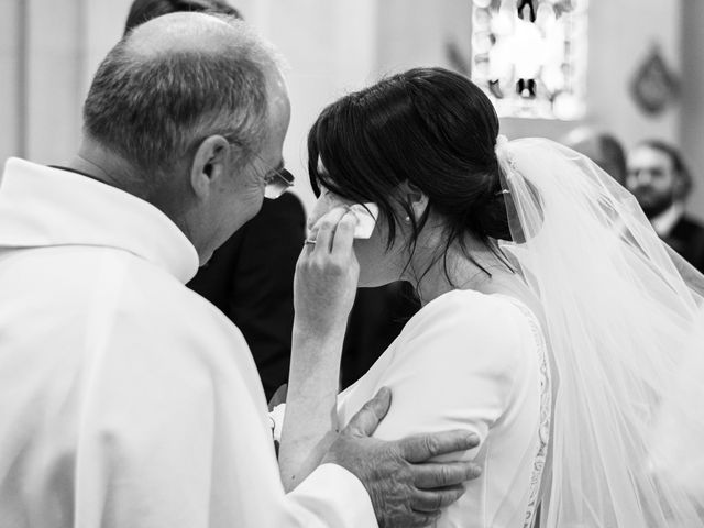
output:
[[[391,391],[382,388],[350,420],[322,463],[339,464],[362,481],[380,528],[428,526],[440,516],[441,508],[462,496],[462,483],[481,472],[471,462],[428,460],[472,449],[479,438],[466,431],[419,435],[395,442],[370,438],[389,405]]]

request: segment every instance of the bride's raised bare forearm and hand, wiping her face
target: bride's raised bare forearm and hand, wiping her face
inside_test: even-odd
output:
[[[337,394],[342,342],[354,301],[359,264],[352,249],[356,218],[330,211],[315,245],[296,267],[296,316],[279,469],[288,492],[318,466],[338,432]]]

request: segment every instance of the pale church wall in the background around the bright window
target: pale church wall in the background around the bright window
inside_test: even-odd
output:
[[[130,0],[2,0],[0,156],[40,162],[70,156],[80,106],[100,59],[122,32]],[[309,207],[306,133],[328,102],[382,75],[419,65],[450,66],[448,44],[469,59],[471,0],[232,0],[286,57],[293,101],[285,145],[296,191]],[[23,10],[25,16],[22,16]],[[682,141],[704,165],[704,3],[700,0],[592,0],[588,116],[627,145],[642,136]],[[682,95],[662,116],[642,116],[628,92],[637,64],[659,43],[683,75]],[[26,61],[22,62],[22,57]],[[509,136],[562,138],[575,122],[505,119]],[[704,211],[704,182],[694,209]]]

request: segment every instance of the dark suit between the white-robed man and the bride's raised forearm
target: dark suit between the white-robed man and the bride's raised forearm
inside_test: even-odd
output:
[[[288,380],[294,272],[306,235],[300,200],[285,193],[220,246],[188,287],[244,334],[267,399]]]

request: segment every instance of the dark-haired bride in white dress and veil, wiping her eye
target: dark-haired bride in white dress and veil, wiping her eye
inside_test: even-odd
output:
[[[316,311],[328,337],[311,346],[295,324],[287,487],[388,386],[377,438],[464,429],[481,439],[462,457],[484,476],[436,526],[530,527],[538,509],[549,527],[701,526],[696,501],[659,471],[652,431],[678,366],[701,348],[689,340],[702,326],[702,276],[626,190],[556,143],[508,142],[486,96],[441,68],[332,103],[308,150],[318,201],[296,309]],[[369,239],[354,239],[359,205],[378,209]],[[337,395],[358,279],[408,280],[424,306]]]

